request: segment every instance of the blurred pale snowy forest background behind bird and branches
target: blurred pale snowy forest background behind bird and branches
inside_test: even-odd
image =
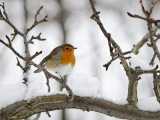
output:
[[[117,104],[127,103],[128,79],[116,60],[106,71],[103,65],[111,57],[106,38],[97,24],[90,19],[93,14],[88,0],[3,0],[7,14],[12,23],[21,31],[27,29],[34,22],[36,11],[43,6],[38,19],[48,16],[47,22],[36,26],[27,36],[37,36],[41,33],[44,41],[35,40],[29,45],[33,55],[42,50],[34,61],[38,64],[50,51],[62,43],[71,43],[78,49],[76,66],[68,78],[68,85],[73,93],[80,96],[103,98]],[[149,8],[151,0],[144,0]],[[146,23],[131,18],[127,12],[142,15],[139,0],[95,0],[95,6],[101,12],[101,20],[112,37],[123,51],[129,51],[148,32]],[[159,4],[156,5],[153,16],[159,18]],[[6,40],[13,29],[4,21],[0,21],[0,38]],[[21,37],[16,36],[13,46],[25,55],[25,46]],[[157,46],[160,48],[160,41]],[[141,66],[150,69],[149,65],[153,50],[144,45],[138,55],[129,59],[131,66]],[[24,61],[20,61],[23,63]],[[160,62],[156,60],[157,64]],[[160,64],[159,64],[160,65]],[[59,90],[59,83],[50,80],[51,92],[47,91],[43,73],[35,74],[34,67],[27,74],[17,66],[17,59],[12,51],[0,44],[0,108],[23,99],[36,96],[66,93]],[[28,86],[23,84],[27,77]],[[160,110],[153,91],[151,74],[141,76],[138,84],[138,107],[142,110]],[[85,112],[77,109],[56,110],[40,115],[39,120],[119,120],[96,112]],[[34,118],[33,116],[32,118]],[[32,119],[30,118],[30,119]]]

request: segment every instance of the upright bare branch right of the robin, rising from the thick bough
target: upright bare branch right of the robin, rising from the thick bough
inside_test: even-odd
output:
[[[111,37],[111,34],[108,33],[106,31],[106,29],[104,28],[100,17],[99,17],[99,13],[97,12],[95,6],[94,6],[94,2],[93,0],[89,0],[90,1],[90,5],[93,11],[93,15],[92,15],[92,19],[94,21],[96,21],[96,23],[98,24],[98,26],[100,27],[102,33],[104,34],[104,36],[108,39],[108,44],[109,44],[109,48],[110,48],[110,55],[111,57],[114,57],[115,55],[119,56],[119,59],[121,61],[121,64],[126,72],[126,75],[128,77],[129,80],[129,87],[128,87],[128,103],[130,105],[136,106],[136,103],[138,101],[137,98],[137,85],[138,85],[138,76],[136,74],[136,71],[131,68],[128,63],[126,58],[123,55],[123,52],[120,48],[120,46],[115,42],[115,40]]]

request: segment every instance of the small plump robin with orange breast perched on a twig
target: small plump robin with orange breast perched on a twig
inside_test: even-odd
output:
[[[40,66],[53,70],[56,74],[60,75],[66,83],[66,77],[71,73],[75,65],[74,50],[77,49],[71,44],[63,44],[52,50],[41,62]],[[34,72],[41,72],[41,69],[37,69]],[[64,85],[63,85],[64,87]]]

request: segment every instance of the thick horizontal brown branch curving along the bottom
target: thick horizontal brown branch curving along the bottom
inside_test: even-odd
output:
[[[30,102],[20,101],[0,110],[0,119],[8,120],[25,119],[33,114],[75,108],[83,111],[95,111],[109,116],[130,120],[159,120],[160,112],[138,110],[126,105],[118,105],[104,99],[75,96],[70,101],[66,95],[52,95],[33,98]]]

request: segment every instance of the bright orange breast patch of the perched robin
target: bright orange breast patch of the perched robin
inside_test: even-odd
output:
[[[62,59],[61,59],[61,64],[71,64],[71,65],[75,65],[75,56],[74,56],[74,52],[70,51],[70,52],[63,52],[62,54]]]

